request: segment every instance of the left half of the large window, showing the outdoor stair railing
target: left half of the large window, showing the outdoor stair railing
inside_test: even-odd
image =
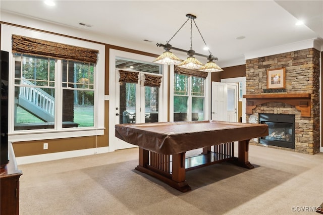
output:
[[[17,53],[14,59],[14,130],[53,128],[56,95],[55,59]]]

